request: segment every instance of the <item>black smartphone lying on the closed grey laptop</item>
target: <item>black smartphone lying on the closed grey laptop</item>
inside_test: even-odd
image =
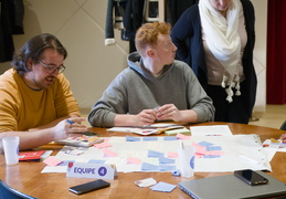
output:
[[[235,170],[234,176],[251,186],[268,184],[268,180],[266,178],[251,169]]]

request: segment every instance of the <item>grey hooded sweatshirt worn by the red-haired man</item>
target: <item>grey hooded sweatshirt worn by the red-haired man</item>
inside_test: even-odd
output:
[[[153,76],[140,60],[137,52],[128,56],[129,67],[115,77],[93,106],[88,115],[92,126],[112,127],[116,114],[137,115],[142,109],[165,104],[174,104],[178,109],[193,109],[198,114],[197,123],[213,121],[212,100],[189,65],[174,60]]]

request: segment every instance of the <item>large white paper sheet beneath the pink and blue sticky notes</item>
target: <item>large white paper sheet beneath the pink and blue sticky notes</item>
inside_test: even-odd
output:
[[[141,163],[158,165],[158,160],[148,157],[148,150],[163,153],[165,157],[167,157],[168,153],[178,153],[180,140],[163,140],[163,137],[157,138],[158,140],[156,142],[145,142],[142,137],[140,137],[139,142],[126,142],[117,137],[110,138],[108,142],[112,147],[108,147],[108,149],[116,153],[116,157],[105,157],[104,149],[96,147],[89,147],[87,150],[83,150],[83,154],[76,156],[73,155],[73,153],[68,153],[71,151],[71,147],[68,146],[63,147],[55,157],[60,160],[81,160],[85,163],[88,163],[88,160],[104,160],[109,164],[115,164],[117,171],[141,171],[141,165],[128,165],[127,158],[135,157],[140,159]],[[223,155],[216,158],[195,158],[194,171],[197,172],[224,172],[246,168],[253,170],[272,170],[257,135],[191,136],[190,139],[182,142],[184,145],[206,142],[213,146],[221,147],[223,151]],[[130,154],[128,154],[128,151],[130,151]],[[246,159],[241,156],[245,156]],[[254,161],[250,161],[247,158]],[[177,158],[174,159],[177,161]],[[254,164],[256,161],[258,164]],[[177,166],[177,164],[173,165]],[[59,168],[59,171],[60,170],[63,171],[63,168]],[[49,168],[45,168],[43,171],[49,171]],[[51,172],[56,172],[56,168],[52,168]]]

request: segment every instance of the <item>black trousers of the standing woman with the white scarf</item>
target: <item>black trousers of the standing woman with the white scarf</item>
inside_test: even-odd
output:
[[[212,98],[215,107],[214,122],[248,124],[250,116],[244,104],[243,93],[245,85],[241,83],[241,96],[236,96],[234,88],[233,102],[226,101],[225,88],[216,85],[208,85],[206,94]]]

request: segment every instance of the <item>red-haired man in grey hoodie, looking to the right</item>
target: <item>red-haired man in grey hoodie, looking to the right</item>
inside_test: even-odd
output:
[[[213,121],[212,100],[189,65],[174,60],[171,27],[145,23],[135,38],[137,52],[128,66],[95,103],[92,126],[144,126],[153,122],[202,123]]]

